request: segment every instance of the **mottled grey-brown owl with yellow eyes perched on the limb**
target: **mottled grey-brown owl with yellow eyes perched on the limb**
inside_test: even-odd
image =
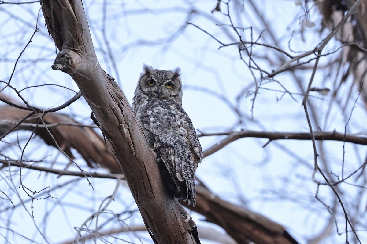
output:
[[[143,65],[132,110],[138,118],[168,192],[195,206],[195,172],[204,158],[189,116],[182,108],[180,69]]]

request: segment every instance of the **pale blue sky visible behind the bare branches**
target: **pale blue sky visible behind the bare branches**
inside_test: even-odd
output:
[[[235,1],[232,1],[234,3]],[[304,51],[315,47],[322,36],[327,34],[327,30],[318,33],[320,17],[315,14],[315,8],[311,10],[310,20],[316,23],[314,29],[302,29],[301,21],[303,12],[299,6],[290,0],[259,0],[256,1],[259,9],[264,13],[263,17],[271,24],[270,29],[276,36],[280,48],[287,50],[288,41],[292,31],[295,31],[289,46],[292,50]],[[300,93],[294,78],[291,74],[280,74],[275,77],[288,91],[294,94],[294,101],[289,95],[282,96],[282,90],[276,82],[264,85],[256,97],[253,119],[251,119],[251,106],[254,91],[254,78],[251,76],[246,65],[239,60],[239,53],[236,45],[228,46],[218,50],[220,44],[210,36],[203,33],[194,26],[186,26],[182,29],[186,21],[192,22],[208,31],[222,42],[228,44],[237,42],[233,29],[229,26],[218,26],[215,24],[228,25],[225,15],[218,12],[211,14],[217,1],[152,1],[142,3],[141,1],[109,1],[107,8],[108,15],[103,16],[104,1],[84,1],[84,8],[87,11],[93,43],[97,52],[99,63],[102,68],[116,78],[121,85],[124,94],[131,101],[135,86],[142,71],[143,63],[152,65],[157,69],[173,69],[181,67],[182,83],[186,88],[183,93],[183,108],[191,117],[196,129],[203,132],[222,132],[228,129],[252,129],[258,131],[287,131],[287,132],[307,132],[308,124],[305,119],[304,109],[301,106],[303,97]],[[247,3],[246,3],[247,4]],[[192,8],[196,12],[187,19],[188,9]],[[222,4],[225,11],[225,5]],[[245,5],[242,14],[236,16],[233,11],[233,19],[238,27],[253,26],[253,37],[257,39],[260,32],[265,29],[261,22],[256,20],[251,13],[252,8]],[[1,4],[0,12],[3,16],[0,25],[0,80],[8,81],[15,60],[19,53],[29,41],[35,26],[39,4],[10,5]],[[103,18],[106,24],[103,25]],[[18,90],[27,86],[41,84],[58,84],[77,91],[77,86],[69,75],[61,71],[51,70],[52,62],[55,58],[55,46],[48,35],[44,23],[43,15],[40,13],[38,23],[39,32],[34,36],[32,43],[21,56],[15,75],[11,84]],[[250,41],[250,30],[240,31],[243,40]],[[321,35],[321,36],[320,36]],[[259,42],[270,42],[269,33],[262,33]],[[106,40],[108,44],[106,44]],[[271,42],[273,45],[273,42]],[[338,46],[336,42],[331,42],[328,50],[334,50]],[[261,57],[269,57],[277,60],[275,52],[264,48],[254,47],[254,59],[258,65],[271,71],[281,66],[281,63],[271,64]],[[292,53],[296,55],[295,53]],[[243,53],[244,55],[244,53]],[[338,53],[335,55],[339,55]],[[248,57],[245,60],[248,61]],[[333,57],[330,55],[328,58]],[[328,58],[320,60],[320,65],[326,63]],[[312,65],[313,63],[310,63]],[[334,79],[327,79],[325,71],[319,71],[313,82],[316,87],[332,87]],[[309,81],[310,71],[300,70],[296,72],[297,77],[302,80],[303,87]],[[259,82],[259,73],[255,72]],[[337,79],[337,77],[335,77]],[[346,84],[352,81],[347,80]],[[3,87],[3,86],[1,86]],[[247,89],[244,89],[246,88]],[[215,95],[203,92],[203,90],[215,92]],[[234,105],[236,96],[244,89],[248,96],[243,96],[240,100],[240,111],[242,113],[242,123],[236,124],[238,117],[219,97],[228,98]],[[348,93],[346,86],[341,90]],[[9,95],[14,96],[10,89],[6,89]],[[27,89],[22,95],[30,104],[39,107],[54,107],[61,105],[71,98],[74,93],[63,87],[43,86]],[[340,112],[337,105],[330,106],[330,95],[321,97],[319,94],[312,94],[310,98],[315,108],[316,114],[322,121],[323,131],[344,132],[346,123],[345,115]],[[355,100],[357,93],[352,93],[351,100]],[[341,97],[340,100],[345,102]],[[350,113],[353,103],[350,102],[346,111]],[[328,111],[330,114],[328,117]],[[76,120],[92,124],[89,119],[90,108],[83,99],[72,104],[69,108],[62,110],[76,116]],[[365,132],[365,127],[360,121],[365,121],[366,113],[360,102],[353,111],[350,121],[349,132]],[[26,139],[29,132],[19,132],[19,136]],[[14,141],[16,134],[8,136],[7,141]],[[213,143],[218,142],[221,137],[203,137],[200,142],[203,149],[208,148]],[[24,145],[26,141],[22,141]],[[279,224],[286,226],[300,243],[319,233],[330,214],[325,207],[314,198],[316,184],[312,182],[313,170],[313,149],[311,141],[277,141],[271,142],[268,146],[262,146],[266,139],[240,139],[224,149],[207,157],[197,170],[197,177],[202,180],[215,194],[223,199],[236,204],[243,204],[244,207],[265,215]],[[46,157],[44,165],[56,162],[58,168],[63,168],[67,160],[58,155],[58,152],[48,147],[39,147],[40,140],[27,147],[26,153],[29,158],[41,159]],[[324,142],[326,143],[326,142]],[[3,145],[2,145],[3,146]],[[327,142],[325,155],[327,156],[333,172],[341,172],[341,142]],[[352,172],[364,160],[366,149],[362,146],[346,144],[346,172]],[[288,152],[290,151],[290,152]],[[6,150],[7,155],[18,159],[19,150]],[[77,155],[77,153],[75,152]],[[77,162],[83,165],[79,158]],[[70,170],[77,170],[70,166]],[[93,171],[93,170],[92,170]],[[12,175],[16,191],[23,199],[27,199],[22,190],[17,186],[17,171]],[[46,186],[51,188],[75,177],[45,176],[39,172],[24,172],[26,185],[32,189],[42,189]],[[2,174],[1,177],[6,177]],[[319,176],[317,175],[318,179]],[[52,196],[57,199],[46,199],[35,201],[34,221],[40,228],[40,232],[46,234],[46,239],[50,243],[61,243],[64,240],[72,239],[76,230],[92,213],[98,211],[103,199],[112,194],[116,181],[105,179],[93,179],[94,190],[88,186],[85,179],[79,179],[78,183],[70,184],[65,188],[55,191]],[[4,180],[0,181],[0,188],[7,187]],[[355,187],[341,186],[345,193],[344,200],[346,206],[352,208],[353,202],[350,199],[357,198],[364,192]],[[19,202],[17,193],[8,192],[15,203]],[[320,195],[327,204],[332,204],[330,189],[320,188]],[[1,200],[4,201],[4,200]],[[8,203],[6,203],[8,204]],[[19,207],[11,214],[0,212],[3,223],[5,219],[11,218],[11,229],[37,240],[37,243],[45,243],[34,227],[33,219],[26,213],[30,210],[30,203],[26,207]],[[339,207],[337,205],[337,207]],[[0,208],[1,209],[1,208]],[[124,209],[135,211],[131,194],[128,189],[120,186],[116,201],[109,209],[115,213],[120,213]],[[45,211],[50,211],[50,215],[43,216]],[[46,211],[46,212],[47,212]],[[340,209],[338,209],[340,213]],[[128,225],[141,224],[139,214],[132,218],[127,218],[129,213],[123,213],[121,219]],[[113,217],[111,214],[104,214],[100,222]],[[194,220],[199,226],[211,226],[222,231],[214,225],[208,224],[203,217],[193,213]],[[47,219],[47,222],[45,222]],[[337,215],[339,230],[344,230],[342,215]],[[21,220],[21,221],[19,221]],[[14,223],[13,223],[14,222]],[[107,227],[112,228],[122,225],[121,222],[112,221]],[[95,223],[94,223],[95,224]],[[365,223],[366,224],[366,223]],[[1,227],[7,226],[1,224]],[[90,226],[91,228],[94,225]],[[108,229],[106,228],[106,229]],[[340,237],[336,234],[335,228],[333,238],[325,243],[343,243],[345,235]],[[24,239],[19,236],[13,237],[9,232],[0,229],[0,233],[6,235],[10,243],[23,243]],[[85,234],[85,233],[84,233]],[[360,232],[360,237],[365,237]],[[149,236],[138,233],[142,236],[142,243],[152,243]],[[140,243],[133,234],[121,235],[120,238]],[[336,242],[335,242],[336,241]],[[6,243],[1,239],[0,243]],[[29,241],[29,243],[31,243]],[[102,243],[102,242],[97,242]],[[214,243],[202,241],[203,244]]]

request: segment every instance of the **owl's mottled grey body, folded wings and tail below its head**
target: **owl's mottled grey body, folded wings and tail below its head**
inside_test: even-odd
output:
[[[189,116],[181,104],[157,98],[133,108],[168,190],[195,205],[195,172],[204,155]]]

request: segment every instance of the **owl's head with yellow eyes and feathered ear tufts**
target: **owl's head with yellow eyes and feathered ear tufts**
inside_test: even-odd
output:
[[[174,70],[155,70],[152,66],[143,65],[135,94],[144,93],[148,97],[172,100],[182,103],[182,85],[180,68]]]

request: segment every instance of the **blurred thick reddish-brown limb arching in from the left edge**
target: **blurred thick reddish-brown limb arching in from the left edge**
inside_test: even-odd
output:
[[[29,111],[12,107],[10,105],[0,106],[0,135],[4,135],[11,129],[19,120],[29,114]],[[39,121],[39,115],[32,115],[14,129],[33,131]],[[106,145],[101,136],[95,133],[91,128],[82,126],[67,115],[61,113],[48,113],[43,116],[43,122],[46,125],[55,125],[48,127],[52,137],[44,127],[43,123],[39,123],[35,133],[40,136],[47,145],[57,148],[57,145],[70,158],[74,158],[70,148],[75,148],[87,164],[95,167],[93,164],[111,165],[114,168],[113,172],[120,170],[119,164],[108,145]]]

